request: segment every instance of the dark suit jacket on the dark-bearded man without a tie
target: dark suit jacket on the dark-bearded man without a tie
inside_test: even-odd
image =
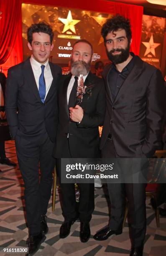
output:
[[[104,147],[111,132],[118,156],[152,157],[154,151],[162,147],[165,88],[160,70],[135,57],[135,66],[114,102],[107,80],[111,64],[103,71],[107,108],[100,148]]]

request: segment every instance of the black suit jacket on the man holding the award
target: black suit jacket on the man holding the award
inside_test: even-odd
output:
[[[99,129],[105,115],[105,87],[103,79],[89,72],[84,85],[93,85],[91,96],[85,94],[81,103],[84,116],[81,123],[71,122],[67,104],[67,88],[72,74],[59,79],[59,122],[54,157],[61,158],[69,133],[69,148],[72,158],[99,157]]]

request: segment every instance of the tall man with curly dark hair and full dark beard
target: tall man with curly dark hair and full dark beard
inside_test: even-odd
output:
[[[130,161],[146,162],[146,158],[152,157],[155,150],[162,146],[162,74],[129,51],[132,39],[128,19],[120,15],[108,19],[101,33],[107,56],[112,61],[103,71],[107,108],[100,144],[102,158],[132,158]],[[130,170],[123,167],[122,172],[127,174]],[[140,168],[139,175],[141,171]],[[132,243],[130,255],[143,255],[146,184],[118,183],[107,186],[111,201],[110,222],[94,235],[94,239],[102,241],[113,234],[122,233],[127,197]]]

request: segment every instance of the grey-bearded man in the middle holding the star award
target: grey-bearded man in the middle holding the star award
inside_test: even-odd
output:
[[[94,184],[79,184],[77,207],[74,184],[61,182],[61,158],[100,157],[98,126],[104,121],[105,88],[104,81],[89,71],[92,56],[92,45],[86,40],[77,41],[72,50],[71,74],[60,77],[59,123],[54,151],[64,216],[59,236],[66,238],[71,225],[79,218],[82,242],[87,242],[90,237],[89,221],[94,210]],[[84,85],[91,86],[91,93],[84,94],[82,103],[76,105],[77,80],[80,74],[83,75]]]

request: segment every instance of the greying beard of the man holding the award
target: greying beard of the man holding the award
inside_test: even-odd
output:
[[[71,73],[73,76],[79,77],[80,74],[86,76],[90,69],[91,61],[86,63],[85,61],[73,61],[71,59]]]

